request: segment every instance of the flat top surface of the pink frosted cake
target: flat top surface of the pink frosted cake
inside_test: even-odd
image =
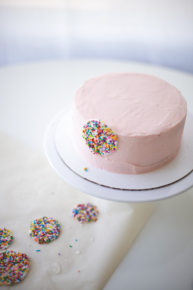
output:
[[[74,104],[86,121],[100,119],[116,134],[130,136],[157,134],[186,116],[180,92],[148,74],[110,73],[87,80]]]

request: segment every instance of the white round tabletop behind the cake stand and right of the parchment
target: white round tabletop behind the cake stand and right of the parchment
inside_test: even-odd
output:
[[[0,130],[42,154],[52,118],[88,78],[107,72],[153,74],[177,87],[193,114],[193,75],[134,62],[69,60],[0,68]],[[192,290],[193,189],[155,210],[104,290]],[[113,254],[113,253],[112,253]]]

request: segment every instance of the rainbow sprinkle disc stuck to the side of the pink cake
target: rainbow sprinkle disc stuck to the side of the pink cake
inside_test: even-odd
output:
[[[117,148],[118,139],[113,130],[100,120],[88,120],[82,133],[93,154],[108,155]]]

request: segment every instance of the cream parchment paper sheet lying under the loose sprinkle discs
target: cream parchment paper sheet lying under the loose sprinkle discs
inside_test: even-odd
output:
[[[102,289],[152,213],[152,205],[86,195],[62,180],[46,157],[4,134],[0,139],[0,227],[13,234],[8,249],[25,253],[30,260],[27,276],[8,288]],[[71,209],[88,201],[97,206],[98,220],[81,227],[71,217]],[[28,230],[32,220],[43,216],[58,219],[61,233],[56,240],[40,245]],[[81,253],[75,255],[75,249]],[[58,274],[52,270],[53,261],[60,264]]]

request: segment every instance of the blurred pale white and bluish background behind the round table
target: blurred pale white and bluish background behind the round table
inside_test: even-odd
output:
[[[0,65],[67,58],[193,73],[193,1],[0,0]]]

